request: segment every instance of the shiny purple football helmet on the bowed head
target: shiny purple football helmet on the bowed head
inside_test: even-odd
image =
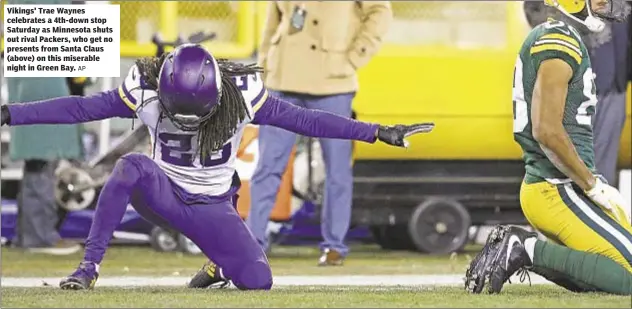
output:
[[[163,112],[181,130],[197,130],[220,104],[222,78],[217,61],[198,44],[169,53],[158,77]]]

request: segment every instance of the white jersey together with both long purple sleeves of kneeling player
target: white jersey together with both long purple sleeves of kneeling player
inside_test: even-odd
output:
[[[156,142],[156,164],[171,180],[190,193],[221,195],[229,191],[235,172],[236,152],[248,123],[271,125],[298,134],[376,141],[377,124],[347,119],[331,113],[294,106],[273,96],[259,75],[237,77],[235,82],[248,106],[248,117],[224,148],[208,158],[194,158],[198,135],[181,131],[168,118],[159,119],[158,93],[140,80],[132,67],[118,89],[86,97],[69,96],[12,104],[10,125],[82,123],[112,117],[140,118]],[[144,103],[144,104],[143,104]]]

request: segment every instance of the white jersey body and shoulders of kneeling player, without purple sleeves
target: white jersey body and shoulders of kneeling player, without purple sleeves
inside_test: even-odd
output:
[[[147,125],[152,144],[155,144],[152,157],[156,164],[169,178],[191,193],[220,195],[228,191],[235,173],[237,150],[244,128],[254,119],[256,111],[268,97],[261,76],[236,78],[235,82],[248,106],[248,117],[239,124],[224,148],[203,160],[195,156],[197,132],[179,130],[168,118],[159,119],[158,93],[143,87],[140,76],[138,68],[133,66],[118,92],[123,102]]]

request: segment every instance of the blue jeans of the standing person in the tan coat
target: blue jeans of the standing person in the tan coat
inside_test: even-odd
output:
[[[355,93],[310,96],[270,91],[270,95],[300,107],[350,117]],[[250,182],[252,205],[246,222],[264,248],[269,246],[266,228],[295,142],[296,134],[293,132],[273,126],[259,127],[259,160]],[[349,140],[320,139],[325,161],[325,196],[321,213],[323,242],[320,247],[322,250],[336,250],[342,255],[349,252],[344,240],[351,221],[352,145]]]

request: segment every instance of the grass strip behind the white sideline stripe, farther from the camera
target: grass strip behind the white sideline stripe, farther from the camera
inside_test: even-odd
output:
[[[347,275],[347,274],[447,274],[464,273],[475,252],[456,256],[428,256],[414,252],[388,252],[376,246],[356,246],[344,267],[316,267],[317,248],[275,247],[269,256],[275,275]],[[65,276],[74,270],[83,253],[70,256],[30,254],[2,248],[2,275],[7,277]],[[156,252],[148,247],[112,247],[108,249],[103,275],[168,276],[195,273],[205,262],[202,256],[174,252]]]

